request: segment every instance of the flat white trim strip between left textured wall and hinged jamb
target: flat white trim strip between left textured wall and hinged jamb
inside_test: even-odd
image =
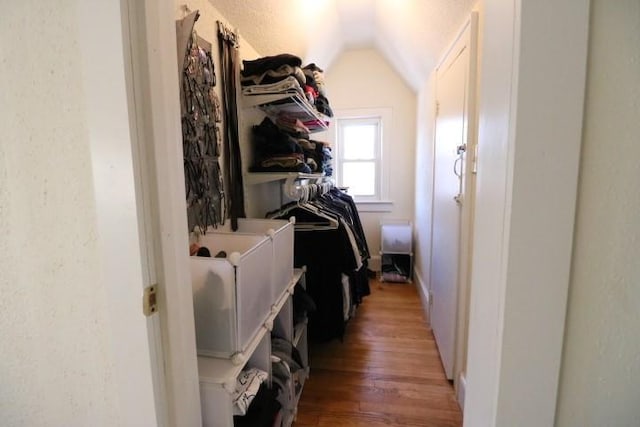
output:
[[[85,90],[100,275],[107,290],[109,350],[113,357],[110,368],[114,373],[110,380],[118,397],[114,423],[153,426],[162,416],[154,399],[153,346],[147,318],[142,313],[144,261],[140,251],[132,151],[135,142],[130,133],[122,9],[119,2],[79,2],[77,7],[77,31],[83,35],[79,46],[83,62],[78,78]],[[96,16],[100,19],[96,20]]]

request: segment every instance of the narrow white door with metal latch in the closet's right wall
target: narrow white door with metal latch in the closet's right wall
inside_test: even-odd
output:
[[[475,14],[460,30],[436,70],[437,113],[434,124],[433,203],[431,223],[430,323],[447,378],[456,379],[466,353],[466,301],[470,257],[469,216],[472,175],[469,151],[475,135]],[[461,151],[460,147],[464,147]],[[466,250],[465,250],[466,249]],[[464,293],[464,295],[463,295]]]

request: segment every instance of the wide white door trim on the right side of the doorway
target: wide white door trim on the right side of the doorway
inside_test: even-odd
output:
[[[554,424],[589,2],[487,0],[465,426]]]

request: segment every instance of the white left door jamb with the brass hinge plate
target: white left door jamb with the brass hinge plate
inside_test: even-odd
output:
[[[160,425],[201,426],[193,295],[185,286],[191,273],[175,5],[168,0],[121,0],[121,5],[140,248],[158,289],[154,317],[159,321],[149,322],[156,412]]]

